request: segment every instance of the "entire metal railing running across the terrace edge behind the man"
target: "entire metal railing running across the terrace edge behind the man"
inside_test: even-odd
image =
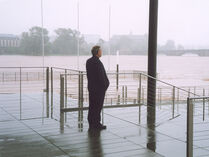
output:
[[[205,123],[208,120],[207,113],[209,115],[209,106],[206,106],[209,98],[201,97],[209,95],[209,90],[206,86],[176,87],[150,77],[146,73],[133,71],[110,72],[107,75],[110,80],[110,87],[106,92],[104,108],[135,107],[137,110],[132,110],[134,112],[131,112],[131,114],[133,117],[137,116],[138,118],[130,121],[140,125],[147,123],[145,120],[147,118],[146,112],[150,107],[147,105],[147,80],[148,78],[155,79],[157,84],[156,127],[165,121],[180,116],[182,108],[184,108],[184,112],[187,110],[187,156],[192,157],[193,146],[195,146],[195,149],[199,148],[198,145],[193,145],[193,142],[195,142],[193,140],[194,125],[196,124],[194,120],[198,118]],[[46,118],[49,117],[50,112],[51,118],[53,118],[53,103],[56,104],[55,106],[60,107],[61,113],[78,111],[79,121],[83,121],[83,111],[88,110],[87,76],[84,71],[58,67],[51,67],[50,69],[48,67],[0,67],[0,86],[1,96],[5,93],[16,94],[15,98],[20,102],[19,118],[21,120],[38,118],[37,116],[22,116],[23,108],[27,104],[25,102],[27,93],[46,93],[43,97],[44,103],[46,103]],[[49,111],[50,95],[51,111]],[[30,95],[30,97],[34,100],[36,99],[36,96]],[[6,99],[7,97],[3,101],[9,103]],[[202,101],[201,103],[200,100]],[[42,106],[43,102],[40,101],[39,104]],[[185,108],[185,104],[187,104],[187,108]],[[179,107],[181,105],[182,107]],[[37,104],[36,107],[38,106]],[[118,114],[117,116],[125,120],[124,116],[126,115]],[[102,120],[104,121],[104,112],[102,112]],[[194,137],[196,138],[196,136]]]

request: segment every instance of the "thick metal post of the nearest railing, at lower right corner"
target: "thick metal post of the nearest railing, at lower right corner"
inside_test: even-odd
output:
[[[193,157],[193,103],[187,98],[187,157]]]

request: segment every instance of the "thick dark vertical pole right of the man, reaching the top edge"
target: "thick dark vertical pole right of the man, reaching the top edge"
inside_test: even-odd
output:
[[[158,0],[150,0],[149,8],[149,41],[148,41],[148,75],[156,78],[157,67],[157,22]],[[156,80],[148,77],[147,124],[155,124],[156,117]]]

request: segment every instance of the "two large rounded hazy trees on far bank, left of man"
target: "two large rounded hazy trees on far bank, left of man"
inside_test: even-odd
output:
[[[42,40],[42,31],[43,38]],[[55,30],[56,38],[50,41],[48,30],[41,27],[32,27],[29,32],[23,32],[20,39],[19,54],[42,55],[44,45],[45,55],[81,55],[87,54],[89,46],[77,30],[70,28],[59,28]],[[44,44],[42,43],[44,41]],[[79,43],[79,46],[78,46]]]

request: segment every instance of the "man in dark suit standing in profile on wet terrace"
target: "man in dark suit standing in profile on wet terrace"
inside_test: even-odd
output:
[[[91,49],[92,57],[86,62],[86,71],[89,91],[88,122],[90,129],[106,129],[100,123],[101,110],[104,103],[105,92],[109,87],[109,80],[105,68],[99,58],[102,56],[100,46]]]

